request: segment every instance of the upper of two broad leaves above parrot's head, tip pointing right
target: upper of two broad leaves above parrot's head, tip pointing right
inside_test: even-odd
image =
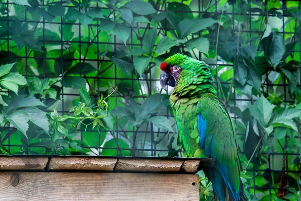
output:
[[[184,38],[189,34],[194,34],[203,29],[206,29],[207,27],[213,25],[216,22],[217,21],[213,20],[212,18],[185,19],[179,23],[179,34],[181,35],[181,38]]]

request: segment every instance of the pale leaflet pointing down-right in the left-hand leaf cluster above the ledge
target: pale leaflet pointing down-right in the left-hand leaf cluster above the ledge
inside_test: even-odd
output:
[[[48,122],[48,118],[46,117],[46,114],[43,111],[41,111],[37,108],[24,108],[24,109],[20,109],[20,110],[22,110],[23,112],[25,112],[28,115],[29,120],[32,123],[34,123],[41,129],[43,129],[48,134],[49,122]]]

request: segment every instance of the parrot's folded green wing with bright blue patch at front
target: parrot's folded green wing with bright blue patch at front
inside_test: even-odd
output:
[[[201,148],[216,160],[229,194],[239,200],[240,162],[234,124],[224,104],[211,93],[205,93],[198,102],[198,130]],[[222,186],[216,188],[219,191]]]

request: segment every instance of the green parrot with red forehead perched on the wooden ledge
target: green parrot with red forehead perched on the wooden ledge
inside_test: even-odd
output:
[[[234,123],[217,96],[209,66],[177,53],[162,62],[160,68],[162,88],[174,87],[170,103],[178,146],[188,157],[215,159],[214,168],[204,169],[215,200],[246,200]]]

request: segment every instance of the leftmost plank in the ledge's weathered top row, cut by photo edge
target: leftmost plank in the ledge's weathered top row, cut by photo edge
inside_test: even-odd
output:
[[[43,170],[47,162],[47,156],[1,156],[0,170]]]

